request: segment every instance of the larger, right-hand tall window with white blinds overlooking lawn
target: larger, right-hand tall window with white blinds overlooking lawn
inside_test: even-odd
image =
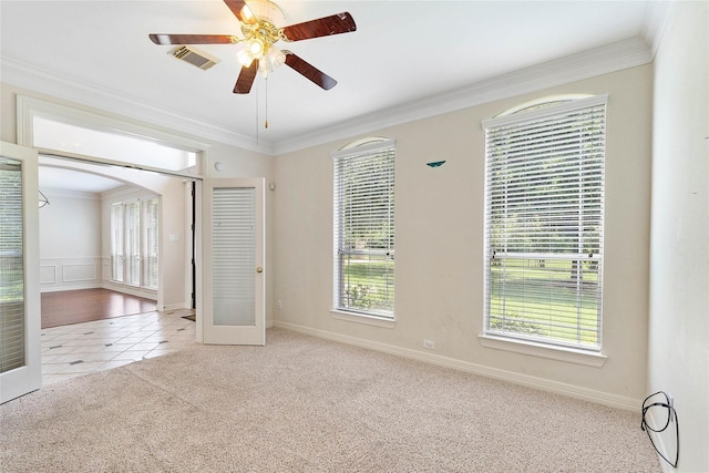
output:
[[[600,350],[604,96],[485,130],[485,335]]]

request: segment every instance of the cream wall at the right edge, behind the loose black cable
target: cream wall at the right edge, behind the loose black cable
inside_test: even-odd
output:
[[[709,471],[709,3],[675,2],[655,59],[648,393],[675,398],[677,471]],[[674,433],[662,435],[674,454]]]

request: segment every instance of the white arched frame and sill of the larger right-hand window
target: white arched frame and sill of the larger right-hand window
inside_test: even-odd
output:
[[[532,106],[531,106],[532,105]],[[492,206],[492,197],[491,197],[491,152],[490,152],[490,131],[496,128],[503,128],[507,126],[515,125],[530,125],[534,123],[538,123],[543,120],[549,120],[549,117],[554,116],[564,116],[566,114],[578,113],[579,111],[592,110],[592,109],[603,109],[603,137],[602,150],[603,154],[600,157],[600,217],[599,217],[599,228],[595,230],[599,233],[599,241],[598,241],[598,251],[594,255],[594,259],[597,264],[597,342],[596,345],[587,345],[587,343],[567,343],[564,341],[559,341],[557,338],[551,337],[540,337],[537,335],[526,336],[521,332],[515,332],[516,329],[496,329],[491,327],[491,322],[495,320],[494,317],[491,317],[491,297],[492,297],[492,288],[491,288],[491,279],[492,276],[492,266],[494,263],[499,263],[499,257],[491,244],[491,234],[492,234],[492,217],[491,217],[491,206]],[[526,354],[537,354],[546,358],[553,359],[563,359],[565,361],[579,362],[583,364],[589,366],[602,366],[605,362],[605,356],[600,353],[603,343],[602,343],[602,335],[603,335],[603,213],[605,207],[605,158],[606,158],[606,146],[605,146],[605,134],[607,132],[607,95],[594,95],[594,96],[585,96],[580,97],[579,95],[569,96],[564,100],[559,96],[546,97],[543,100],[527,102],[520,106],[513,107],[507,112],[504,112],[497,115],[494,119],[486,120],[483,122],[483,130],[485,131],[485,243],[484,243],[484,310],[483,310],[483,332],[480,336],[481,343],[489,348],[496,349],[505,349],[511,351],[523,352]],[[571,161],[571,160],[569,160]],[[579,160],[580,161],[580,160]],[[583,175],[583,172],[580,172]],[[580,241],[583,237],[578,237]],[[522,256],[528,255],[532,256],[533,253],[526,251]],[[552,257],[558,257],[557,255],[549,255]],[[571,255],[571,254],[568,254]],[[521,256],[521,255],[517,255]],[[571,258],[571,256],[568,257]],[[568,259],[566,258],[566,259]],[[580,266],[580,265],[579,265]],[[525,289],[526,290],[526,289]],[[578,302],[577,302],[578,305]],[[504,311],[505,309],[503,309]],[[522,331],[523,332],[523,331]]]

